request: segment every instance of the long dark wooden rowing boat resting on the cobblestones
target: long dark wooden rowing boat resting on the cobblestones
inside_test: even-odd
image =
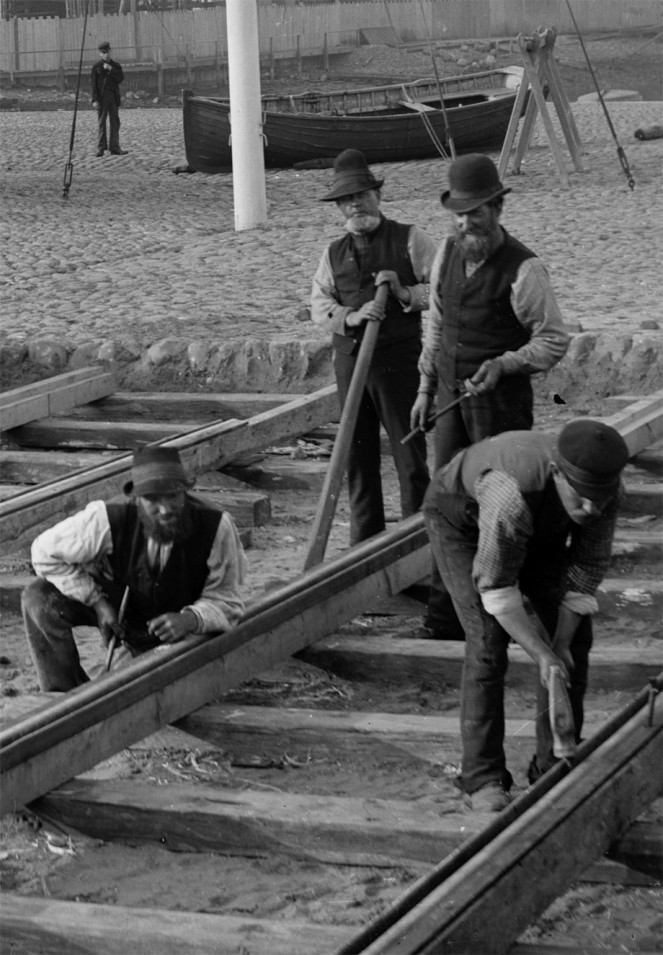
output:
[[[421,79],[263,96],[265,165],[331,165],[348,147],[360,149],[368,162],[425,159],[447,150],[449,138],[458,151],[499,146],[522,77],[522,68],[511,66],[445,77],[439,83]],[[189,166],[198,172],[227,172],[232,165],[230,101],[185,90],[182,105]]]

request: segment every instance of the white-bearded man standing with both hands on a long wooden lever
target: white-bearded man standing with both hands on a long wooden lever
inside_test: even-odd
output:
[[[345,234],[323,252],[311,298],[313,321],[332,336],[342,404],[366,322],[381,323],[348,461],[351,544],[385,529],[381,424],[391,443],[403,517],[419,510],[429,479],[423,432],[405,445],[401,438],[410,430],[417,395],[421,312],[428,305],[435,243],[418,226],[382,215],[383,181],[358,149],[336,157],[332,187],[322,201],[336,203]],[[384,308],[374,301],[382,283],[389,285]]]

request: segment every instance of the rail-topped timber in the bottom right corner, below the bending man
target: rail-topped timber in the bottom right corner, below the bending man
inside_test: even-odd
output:
[[[464,864],[450,872],[442,863],[439,881],[427,880],[429,891],[418,904],[408,906],[406,892],[393,918],[383,913],[379,931],[369,926],[342,952],[508,952],[560,890],[660,796],[662,727],[659,696],[651,725],[645,703],[507,824],[509,813],[518,812],[516,800],[499,817],[501,831]],[[520,798],[525,806],[526,794]]]

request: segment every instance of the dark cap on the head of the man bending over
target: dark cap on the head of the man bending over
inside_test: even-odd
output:
[[[576,418],[557,442],[557,465],[581,497],[601,501],[613,495],[629,459],[619,431],[602,421]]]

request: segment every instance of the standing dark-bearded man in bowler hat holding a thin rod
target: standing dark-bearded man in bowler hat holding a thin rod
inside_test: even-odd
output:
[[[533,424],[530,378],[566,353],[569,336],[545,266],[500,225],[504,196],[490,157],[470,153],[449,167],[442,206],[452,215],[431,273],[430,320],[419,362],[413,428],[466,397],[435,425],[435,468],[460,448]],[[462,639],[435,568],[417,635]]]

